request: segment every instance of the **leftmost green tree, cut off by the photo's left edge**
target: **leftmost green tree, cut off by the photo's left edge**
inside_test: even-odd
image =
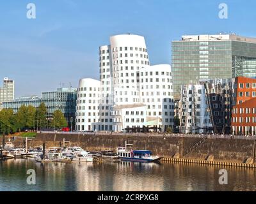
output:
[[[12,131],[11,118],[13,117],[12,109],[3,109],[0,112],[0,132],[5,134],[10,134]]]

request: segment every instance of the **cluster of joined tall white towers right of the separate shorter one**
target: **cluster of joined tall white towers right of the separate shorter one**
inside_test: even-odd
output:
[[[110,45],[99,48],[99,60],[97,130],[123,131],[152,125],[164,130],[173,126],[171,67],[150,67],[143,36],[111,36]]]

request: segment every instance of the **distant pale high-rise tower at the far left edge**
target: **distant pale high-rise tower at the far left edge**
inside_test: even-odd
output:
[[[15,82],[5,77],[3,87],[0,88],[0,103],[12,101],[15,94]]]

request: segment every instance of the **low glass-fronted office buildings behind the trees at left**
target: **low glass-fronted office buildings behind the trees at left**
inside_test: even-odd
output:
[[[61,110],[68,122],[68,126],[71,127],[76,119],[76,99],[77,89],[60,88],[57,89],[57,91],[42,92],[42,98],[38,96],[25,96],[4,102],[3,108],[10,108],[13,110],[13,113],[17,113],[22,105],[32,105],[38,108],[41,103],[45,103],[47,117],[49,119],[52,118],[52,114],[55,110]]]

